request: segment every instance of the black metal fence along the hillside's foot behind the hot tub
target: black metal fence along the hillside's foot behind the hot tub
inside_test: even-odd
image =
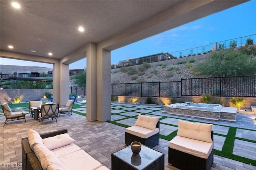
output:
[[[256,75],[189,78],[175,82],[111,84],[112,96],[173,97],[212,96],[256,97]]]

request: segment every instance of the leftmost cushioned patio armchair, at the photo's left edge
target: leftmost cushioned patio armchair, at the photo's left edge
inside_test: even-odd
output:
[[[6,120],[4,121],[4,125],[8,122],[8,121],[14,121],[14,120],[19,120],[19,118],[22,118],[25,122],[26,122],[26,113],[23,113],[23,111],[15,111],[13,112],[10,107],[8,106],[8,104],[4,103],[1,104],[2,110],[4,112],[4,116],[6,118]]]

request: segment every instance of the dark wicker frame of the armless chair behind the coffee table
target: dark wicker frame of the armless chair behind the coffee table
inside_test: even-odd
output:
[[[124,143],[125,145],[130,145],[133,141],[138,141],[143,145],[146,145],[150,148],[159,144],[159,136],[160,136],[160,121],[157,122],[156,127],[159,129],[159,132],[155,135],[148,137],[147,139],[140,138],[138,136],[132,135],[130,133],[124,133]]]

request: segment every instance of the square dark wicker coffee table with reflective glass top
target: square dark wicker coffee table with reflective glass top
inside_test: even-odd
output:
[[[164,170],[164,154],[141,146],[140,153],[134,155],[131,145],[111,154],[112,170]]]

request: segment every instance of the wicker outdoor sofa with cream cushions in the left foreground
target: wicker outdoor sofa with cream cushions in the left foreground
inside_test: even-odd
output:
[[[21,144],[22,170],[109,170],[75,145],[67,129],[42,135],[29,129]]]

